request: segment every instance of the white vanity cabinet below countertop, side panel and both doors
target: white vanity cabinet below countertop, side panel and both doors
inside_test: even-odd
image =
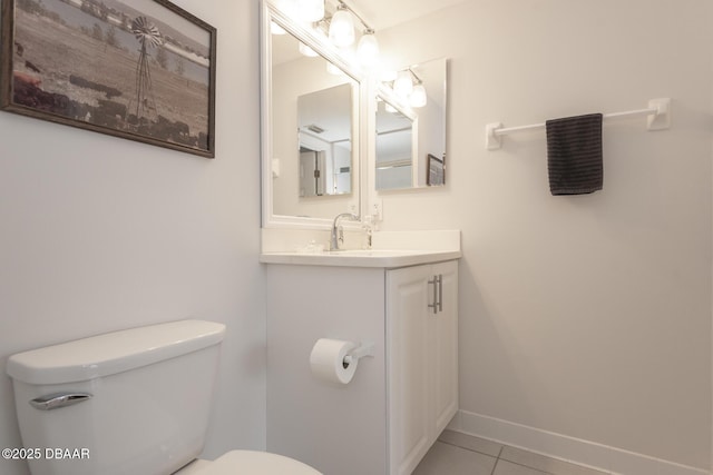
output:
[[[410,474],[458,407],[458,261],[265,269],[267,451],[324,475]],[[325,383],[310,369],[319,338],[374,355]]]

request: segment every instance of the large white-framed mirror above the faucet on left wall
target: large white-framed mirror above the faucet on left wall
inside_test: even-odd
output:
[[[358,76],[316,31],[264,4],[263,222],[359,214]]]

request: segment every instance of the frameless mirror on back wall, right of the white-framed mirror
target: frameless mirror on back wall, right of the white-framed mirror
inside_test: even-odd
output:
[[[380,88],[375,110],[375,188],[379,191],[446,184],[447,70],[445,58],[403,68],[400,76],[426,89],[426,105]],[[412,106],[413,105],[413,106]]]

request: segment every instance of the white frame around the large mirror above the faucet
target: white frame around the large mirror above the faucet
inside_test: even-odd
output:
[[[272,177],[272,150],[273,150],[273,130],[272,130],[272,40],[270,24],[275,21],[287,33],[295,37],[326,61],[330,61],[344,73],[351,77],[359,85],[359,92],[354,95],[355,110],[352,111],[356,116],[356,120],[352,123],[352,209],[344,211],[354,212],[361,216],[367,209],[368,194],[362,190],[363,175],[367,172],[367,161],[362,157],[362,150],[368,150],[364,140],[367,135],[367,112],[364,105],[368,102],[370,93],[367,76],[361,69],[351,65],[339,50],[333,47],[326,39],[319,37],[311,28],[307,28],[292,20],[287,14],[273,4],[271,0],[262,1],[261,9],[261,161],[262,161],[262,227],[263,228],[301,228],[301,229],[330,229],[333,218],[307,218],[300,216],[284,216],[273,214],[273,177]],[[344,224],[346,227],[359,226],[359,224]]]

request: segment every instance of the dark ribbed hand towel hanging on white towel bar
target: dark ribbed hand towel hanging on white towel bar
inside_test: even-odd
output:
[[[553,195],[602,189],[602,115],[553,119],[547,126],[547,171]]]

